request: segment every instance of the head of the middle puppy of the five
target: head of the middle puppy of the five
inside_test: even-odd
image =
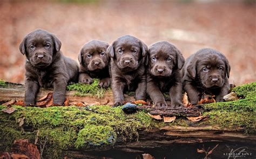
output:
[[[145,59],[147,46],[131,35],[124,35],[114,41],[107,51],[119,69],[132,71],[136,70]]]

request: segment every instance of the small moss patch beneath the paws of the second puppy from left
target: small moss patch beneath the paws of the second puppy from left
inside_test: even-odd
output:
[[[75,93],[76,96],[96,96],[98,98],[103,97],[106,89],[100,88],[98,85],[99,79],[93,78],[93,82],[91,84],[85,84],[85,83],[75,83],[67,86],[67,90],[77,91]]]

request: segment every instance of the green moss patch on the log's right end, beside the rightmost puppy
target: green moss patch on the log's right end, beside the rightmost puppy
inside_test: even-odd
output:
[[[232,102],[206,104],[206,122],[220,128],[244,128],[245,133],[256,132],[256,82],[236,86],[232,91],[244,98]]]

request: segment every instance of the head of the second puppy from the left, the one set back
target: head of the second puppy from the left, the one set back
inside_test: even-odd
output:
[[[106,52],[107,44],[104,41],[92,40],[87,42],[78,55],[78,61],[88,70],[100,70],[109,64],[109,54]]]

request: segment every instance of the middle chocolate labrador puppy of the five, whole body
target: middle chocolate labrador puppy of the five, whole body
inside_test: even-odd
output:
[[[136,99],[146,98],[145,60],[147,46],[141,40],[124,35],[109,46],[114,105],[123,105],[124,89],[135,90]]]

